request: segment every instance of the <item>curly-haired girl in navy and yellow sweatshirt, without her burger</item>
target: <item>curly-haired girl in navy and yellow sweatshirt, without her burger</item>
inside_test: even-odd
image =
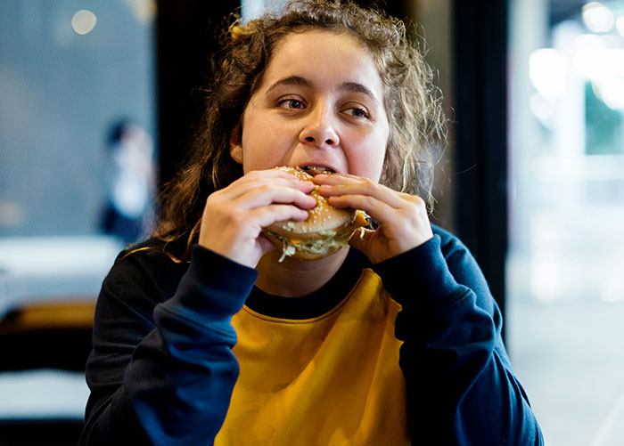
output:
[[[487,284],[428,220],[441,117],[381,12],[304,0],[233,26],[156,237],[103,283],[82,443],[540,444]],[[338,173],[319,193],[377,227],[278,262],[262,229],[316,200],[275,166]]]

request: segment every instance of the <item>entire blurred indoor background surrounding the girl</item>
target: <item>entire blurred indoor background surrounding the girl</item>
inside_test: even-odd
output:
[[[95,298],[185,156],[218,29],[283,3],[0,4],[0,445],[77,442]],[[358,3],[427,42],[432,221],[486,274],[546,444],[624,444],[624,0]]]

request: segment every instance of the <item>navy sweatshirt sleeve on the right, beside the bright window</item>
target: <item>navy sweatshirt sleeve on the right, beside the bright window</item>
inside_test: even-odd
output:
[[[422,444],[542,445],[501,337],[500,311],[459,240],[436,234],[374,266],[402,306],[396,336],[412,436]]]

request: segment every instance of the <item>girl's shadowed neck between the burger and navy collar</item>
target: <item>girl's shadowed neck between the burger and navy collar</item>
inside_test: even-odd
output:
[[[272,251],[260,259],[256,270],[256,287],[275,296],[300,297],[314,293],[324,286],[341,268],[349,249],[341,249],[334,255],[321,260],[293,260],[282,256],[280,251]]]

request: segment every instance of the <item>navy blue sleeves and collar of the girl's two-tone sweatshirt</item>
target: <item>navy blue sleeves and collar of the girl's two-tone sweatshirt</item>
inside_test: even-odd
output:
[[[211,444],[239,373],[232,316],[243,304],[293,319],[322,314],[363,268],[402,307],[395,334],[413,444],[543,444],[486,280],[455,236],[433,231],[380,264],[352,248],[315,295],[281,300],[254,288],[255,270],[203,247],[190,263],[155,239],[121,253],[98,299],[81,444]]]

